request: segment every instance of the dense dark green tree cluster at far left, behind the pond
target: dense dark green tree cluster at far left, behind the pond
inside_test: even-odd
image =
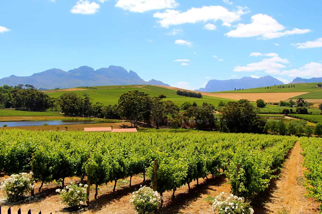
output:
[[[23,87],[27,87],[24,89]],[[32,85],[17,85],[0,87],[0,107],[17,108],[30,111],[46,111],[54,107],[54,99]]]

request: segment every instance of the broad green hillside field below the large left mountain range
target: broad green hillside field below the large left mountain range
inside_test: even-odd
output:
[[[143,87],[142,86],[138,87],[136,85],[129,85],[124,87],[111,87],[111,88],[106,88],[106,87],[109,87],[109,86],[96,87],[101,89],[91,89],[86,91],[70,91],[70,92],[73,92],[79,96],[81,96],[82,94],[88,94],[93,99],[93,103],[100,102],[105,105],[117,104],[119,97],[130,90],[138,90],[140,92],[149,94],[150,96],[158,96],[160,94],[164,94],[167,96],[165,100],[172,100],[174,103],[178,105],[181,105],[184,102],[190,102],[190,103],[196,102],[198,105],[202,105],[202,103],[207,102],[215,106],[218,106],[218,103],[220,101],[223,101],[225,103],[227,103],[228,101],[233,101],[231,99],[211,97],[211,96],[203,96],[203,98],[179,96],[176,94],[176,91],[174,90],[166,89],[158,86],[152,86],[152,85],[147,85]],[[48,93],[48,95],[51,97],[59,97],[64,93],[68,93],[68,92],[57,91],[57,92]]]

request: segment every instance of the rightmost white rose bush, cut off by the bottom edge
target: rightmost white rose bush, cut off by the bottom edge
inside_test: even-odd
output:
[[[215,197],[212,209],[218,214],[253,214],[251,205],[243,201],[243,198],[222,192]]]

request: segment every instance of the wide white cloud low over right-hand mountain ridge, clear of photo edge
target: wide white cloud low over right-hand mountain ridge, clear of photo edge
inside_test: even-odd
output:
[[[266,73],[276,74],[281,68],[286,68],[283,64],[289,64],[288,59],[282,59],[278,56],[272,58],[265,58],[260,62],[250,63],[246,66],[236,66],[234,72],[252,72],[252,71],[266,71]]]

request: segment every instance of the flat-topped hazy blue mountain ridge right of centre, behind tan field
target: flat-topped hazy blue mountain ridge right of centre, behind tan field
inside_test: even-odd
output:
[[[229,80],[209,80],[206,87],[200,88],[196,91],[202,92],[217,92],[217,91],[231,91],[237,89],[248,89],[266,87],[270,85],[283,85],[282,81],[272,76],[262,76],[260,78],[242,77],[241,79],[229,79]]]

